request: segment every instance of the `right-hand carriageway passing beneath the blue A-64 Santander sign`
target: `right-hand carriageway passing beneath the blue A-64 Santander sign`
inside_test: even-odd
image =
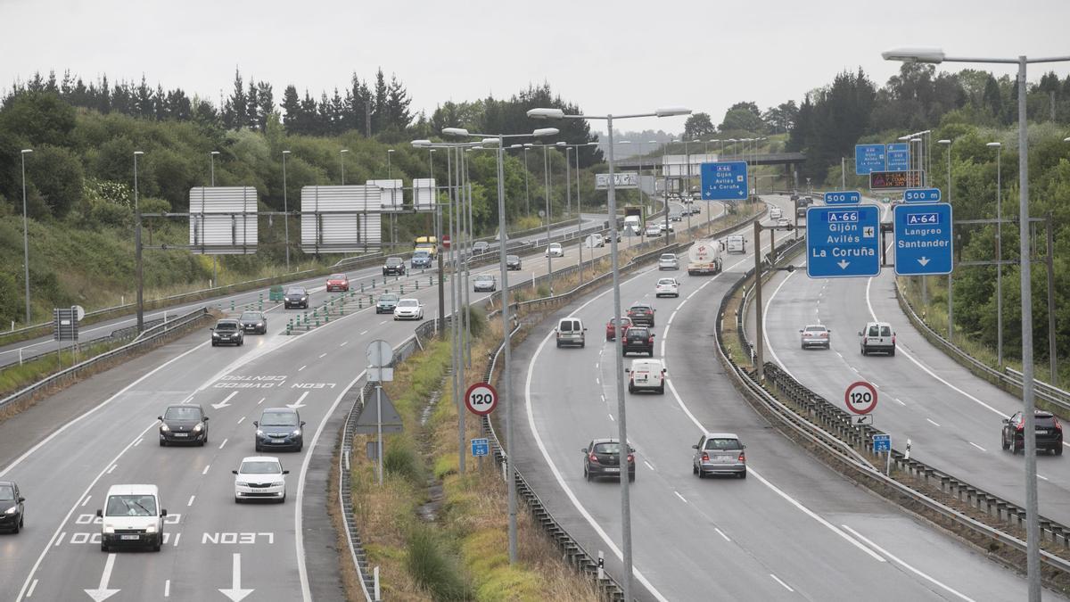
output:
[[[889,250],[889,260],[893,256]],[[800,256],[797,265],[804,260]],[[899,307],[893,279],[891,268],[873,279],[811,280],[805,269],[781,272],[764,288],[771,350],[766,358],[834,403],[842,404],[849,383],[872,382],[878,393],[874,425],[891,434],[895,448],[902,450],[910,439],[913,457],[1024,506],[1024,456],[1000,448],[1000,420],[1021,410],[1021,398],[926,341]],[[858,332],[874,320],[892,325],[895,357],[859,351]],[[751,314],[752,340],[753,321]],[[831,329],[831,349],[801,349],[798,330],[817,322]],[[1070,463],[1039,454],[1037,472],[1040,513],[1070,524]]]

